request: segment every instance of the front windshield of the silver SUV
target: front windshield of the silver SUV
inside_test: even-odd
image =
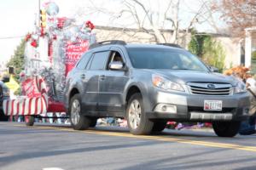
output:
[[[209,71],[195,55],[181,49],[128,48],[128,54],[137,69]]]

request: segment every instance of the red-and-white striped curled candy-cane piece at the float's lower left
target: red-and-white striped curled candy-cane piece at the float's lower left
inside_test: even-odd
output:
[[[41,115],[47,113],[48,95],[46,93],[46,85],[42,77],[35,77],[38,91],[41,96],[21,99],[5,99],[3,100],[3,112],[6,116],[15,115]]]

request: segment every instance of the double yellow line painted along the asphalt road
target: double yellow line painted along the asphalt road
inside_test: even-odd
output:
[[[15,127],[25,127],[24,125],[14,125],[14,126]],[[225,148],[225,149],[233,149],[233,150],[247,150],[247,151],[256,152],[256,147],[255,146],[245,146],[245,145],[240,145],[240,144],[207,142],[207,141],[192,140],[192,139],[177,139],[177,138],[163,137],[163,136],[132,135],[131,133],[105,132],[105,131],[99,131],[99,130],[77,131],[77,130],[73,130],[72,128],[69,128],[69,127],[33,126],[32,128],[60,130],[60,131],[76,132],[76,133],[93,133],[93,134],[118,136],[118,137],[134,138],[134,139],[154,139],[154,140],[166,141],[166,142],[177,142],[177,143],[181,143],[181,144],[195,144],[195,145],[209,146],[209,147],[215,147],[215,148]]]

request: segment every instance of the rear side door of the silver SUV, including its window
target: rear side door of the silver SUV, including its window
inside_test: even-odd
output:
[[[96,52],[92,55],[84,74],[84,94],[82,105],[85,111],[97,111],[99,94],[99,74],[105,68],[109,51]]]

